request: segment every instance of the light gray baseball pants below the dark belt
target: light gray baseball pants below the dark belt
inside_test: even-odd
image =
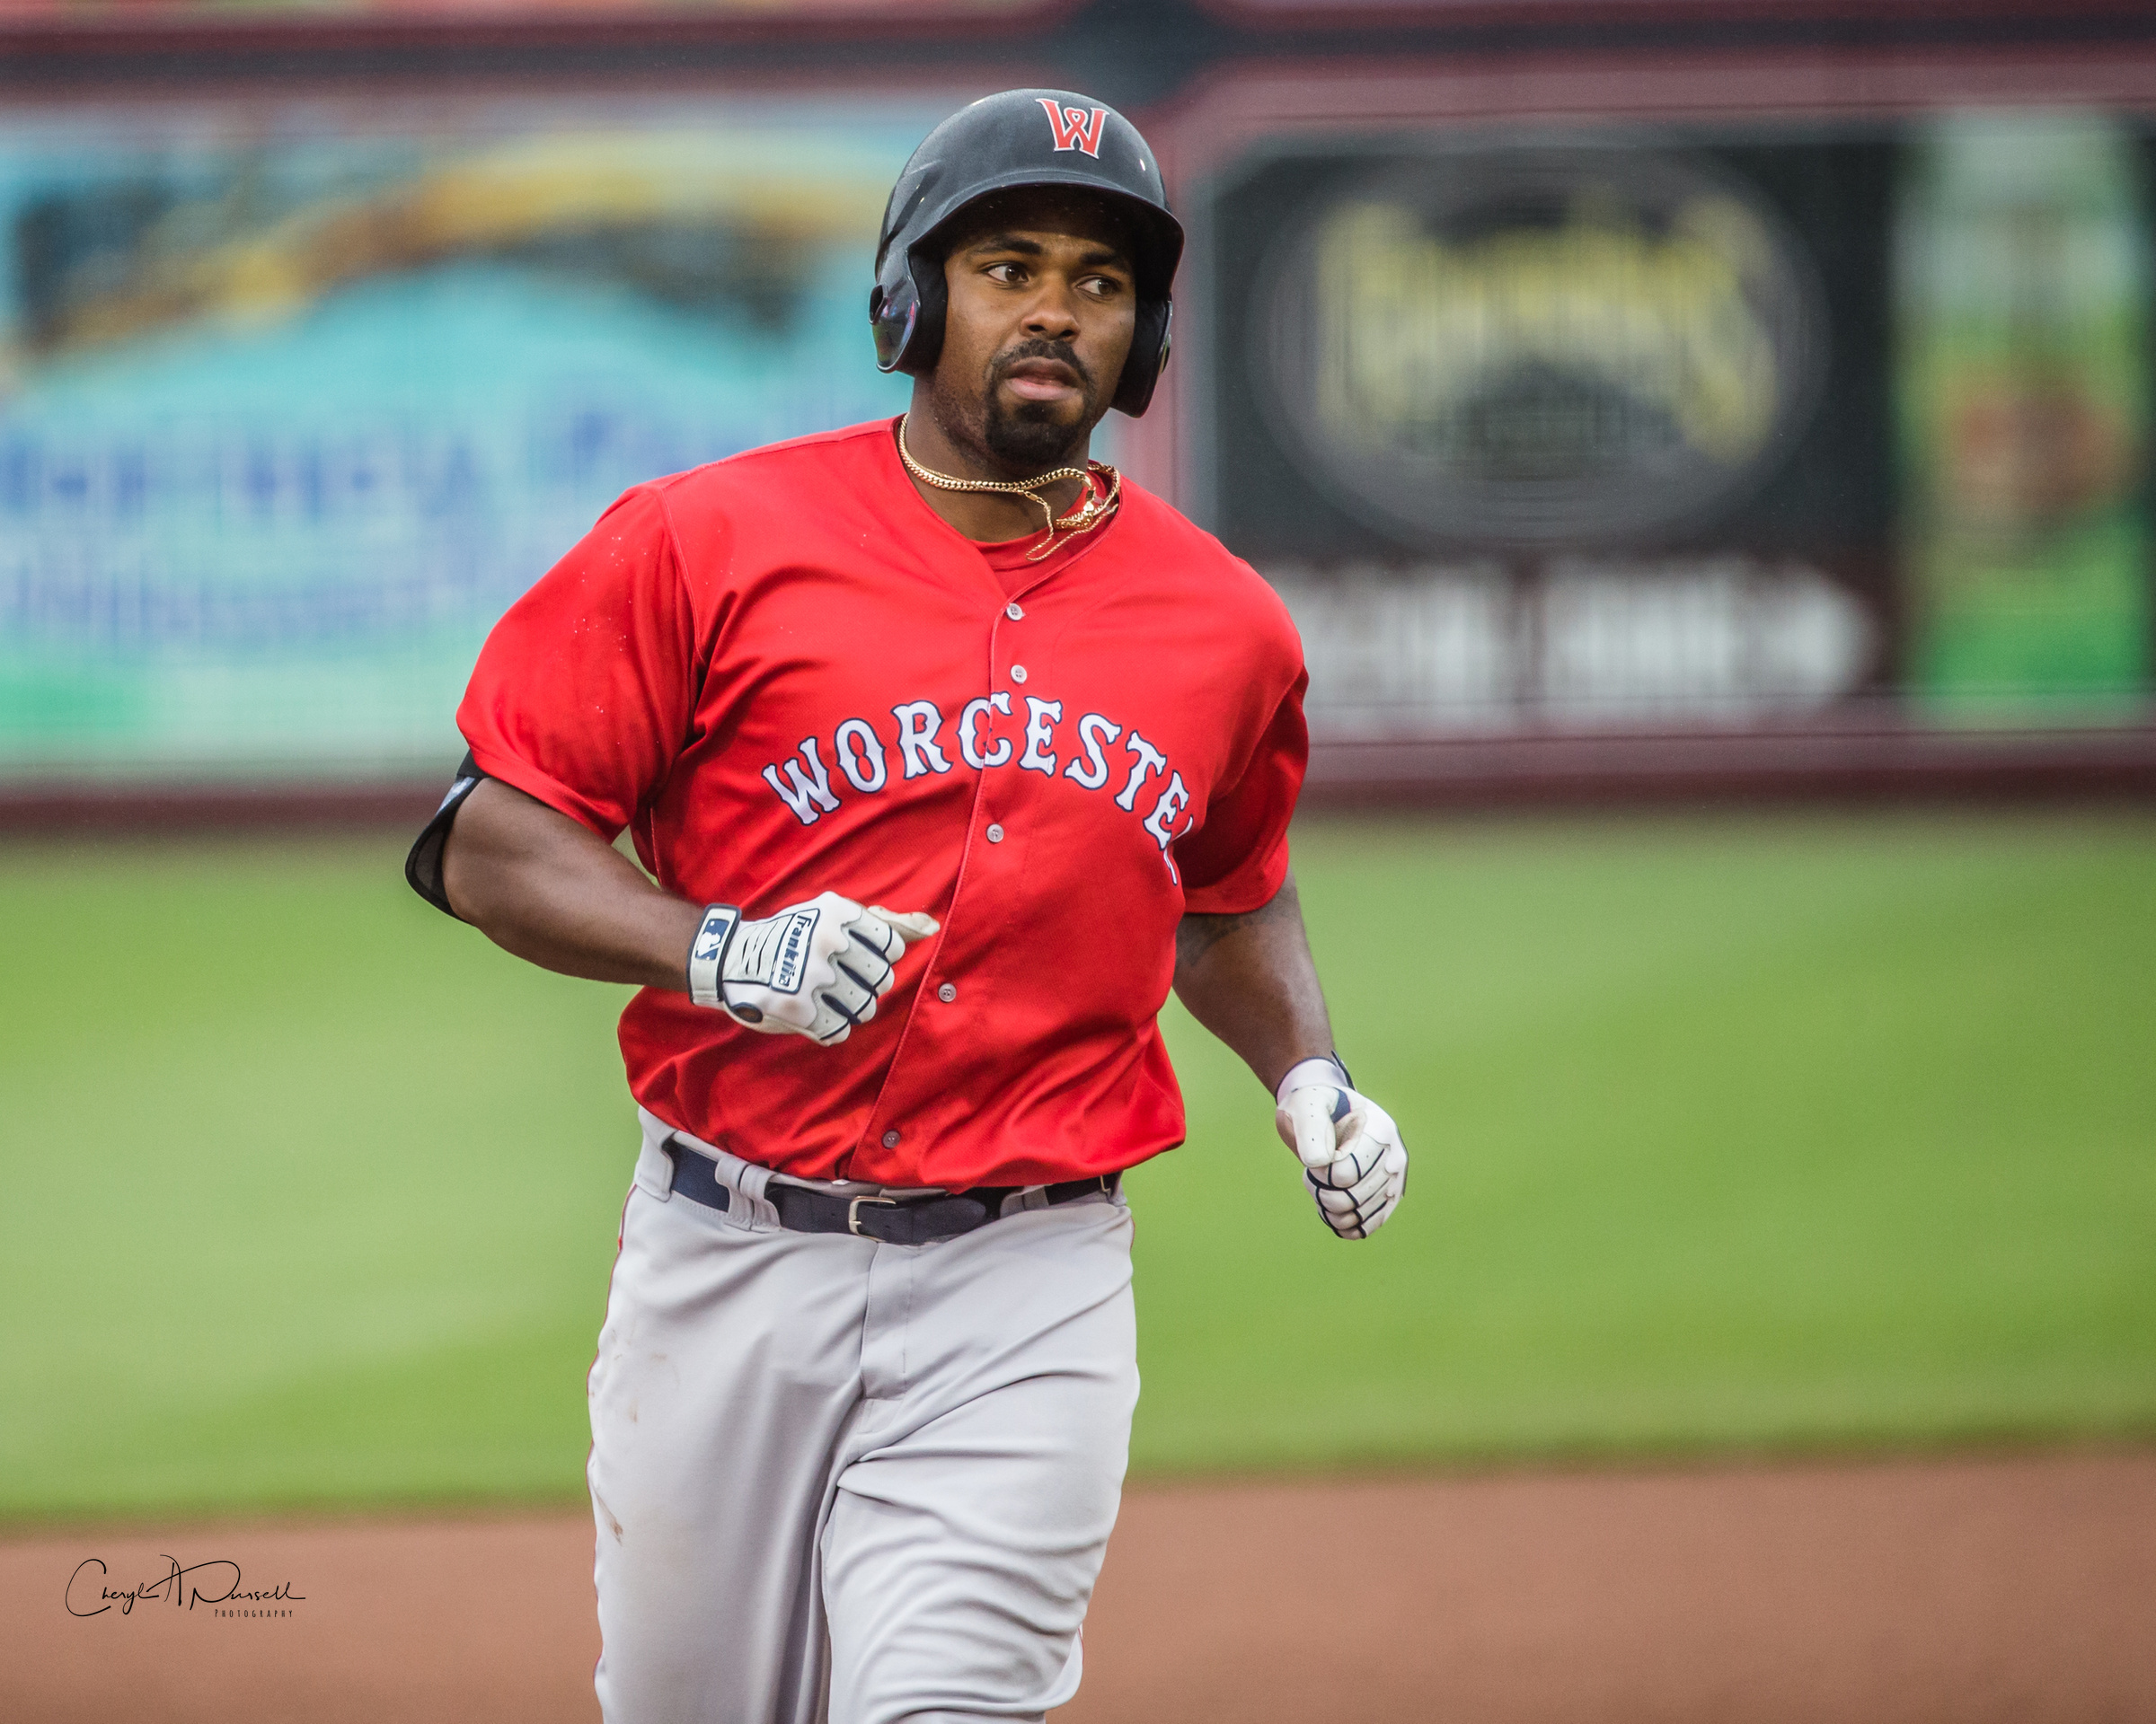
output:
[[[787,1233],[768,1179],[645,1114],[591,1368],[608,1724],[1041,1718],[1138,1399],[1128,1207],[886,1246]]]

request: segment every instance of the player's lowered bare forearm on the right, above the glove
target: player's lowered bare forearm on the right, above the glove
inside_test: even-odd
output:
[[[1184,916],[1175,993],[1270,1090],[1296,1060],[1332,1052],[1332,1019],[1289,875],[1272,903],[1242,916]]]

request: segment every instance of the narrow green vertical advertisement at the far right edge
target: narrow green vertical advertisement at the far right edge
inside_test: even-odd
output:
[[[2150,672],[2156,151],[2104,114],[1958,114],[1902,168],[1908,679],[1981,715]]]

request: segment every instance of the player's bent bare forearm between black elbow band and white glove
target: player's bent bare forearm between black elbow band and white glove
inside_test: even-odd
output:
[[[677,899],[597,834],[498,780],[457,810],[442,851],[457,916],[565,976],[686,987],[703,905]]]

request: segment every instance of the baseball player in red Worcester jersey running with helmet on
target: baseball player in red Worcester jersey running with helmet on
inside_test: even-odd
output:
[[[1119,1177],[1184,1138],[1169,987],[1326,1226],[1399,1202],[1287,868],[1296,631],[1087,457],[1153,392],[1181,239],[1115,110],[951,116],[869,297],[908,412],[638,485],[457,709],[412,884],[640,983],[591,1371],[614,1724],[1069,1700],[1138,1394]]]

